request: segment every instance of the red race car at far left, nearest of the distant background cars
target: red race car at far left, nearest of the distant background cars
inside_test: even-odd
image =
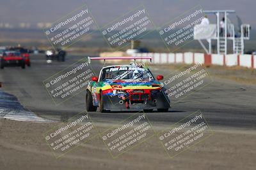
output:
[[[21,66],[22,69],[26,67],[25,58],[16,51],[5,51],[0,57],[0,67],[3,69],[6,66]]]

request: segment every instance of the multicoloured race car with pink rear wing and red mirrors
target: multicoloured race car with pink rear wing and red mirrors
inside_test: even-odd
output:
[[[108,59],[150,59],[151,57],[88,57],[90,60]],[[170,108],[170,99],[159,81],[163,76],[154,78],[148,67],[129,65],[106,66],[99,78],[92,77],[86,89],[86,110],[140,111],[153,110],[166,112]]]

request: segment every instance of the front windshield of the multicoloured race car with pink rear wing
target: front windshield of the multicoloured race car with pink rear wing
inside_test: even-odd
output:
[[[154,80],[149,69],[138,66],[113,66],[102,70],[101,80]]]

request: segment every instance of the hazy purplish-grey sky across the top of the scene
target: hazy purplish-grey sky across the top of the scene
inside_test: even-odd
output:
[[[106,25],[143,4],[156,25],[162,25],[200,4],[203,10],[236,10],[246,24],[256,27],[255,0],[0,0],[0,23],[54,22],[86,3],[96,22]]]

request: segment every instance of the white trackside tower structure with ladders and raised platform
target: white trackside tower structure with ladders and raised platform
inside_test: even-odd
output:
[[[241,24],[240,30],[235,31],[234,24],[230,22],[228,15],[236,13],[234,10],[206,10],[207,15],[216,16],[216,24],[196,25],[194,27],[194,39],[198,40],[205,52],[212,53],[212,40],[216,40],[217,53],[227,54],[228,41],[232,41],[233,53],[244,53],[244,40],[250,39],[250,25]],[[220,15],[224,18],[224,28],[220,27]],[[211,35],[209,35],[211,34]],[[206,39],[208,42],[208,50],[202,40]]]

